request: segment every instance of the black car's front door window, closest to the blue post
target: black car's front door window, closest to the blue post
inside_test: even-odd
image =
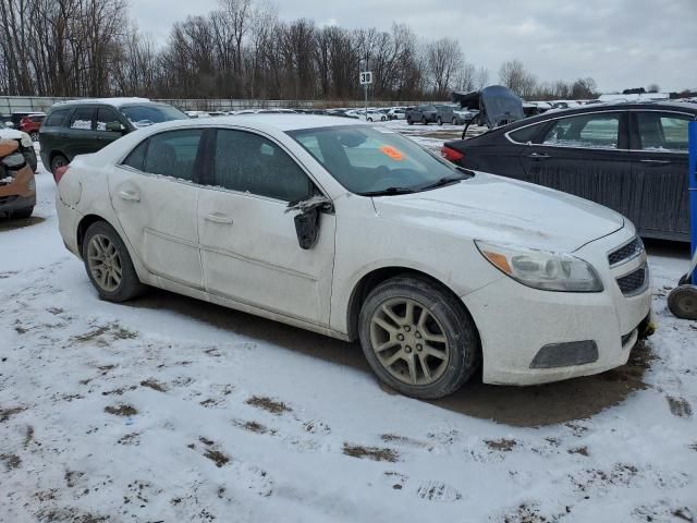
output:
[[[687,153],[687,122],[682,114],[644,111],[637,113],[643,150]]]

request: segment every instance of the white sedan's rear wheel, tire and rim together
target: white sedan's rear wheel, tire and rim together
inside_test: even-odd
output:
[[[101,300],[120,303],[132,300],[145,291],[145,285],[140,283],[133,267],[129,250],[113,227],[106,221],[97,221],[89,226],[83,240],[82,255],[89,281],[97,289]],[[110,259],[105,262],[105,257]],[[102,279],[98,275],[103,275],[100,267],[105,264],[111,269]],[[114,267],[120,268],[120,278]]]

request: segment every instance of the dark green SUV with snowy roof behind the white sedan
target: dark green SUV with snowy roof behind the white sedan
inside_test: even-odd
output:
[[[56,170],[77,155],[96,153],[138,127],[188,117],[167,104],[145,98],[103,98],[59,102],[39,130],[44,167]]]

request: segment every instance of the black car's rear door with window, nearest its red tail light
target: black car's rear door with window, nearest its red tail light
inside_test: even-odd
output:
[[[549,121],[534,142],[522,148],[525,179],[632,218],[636,186],[627,120],[627,111],[604,111]]]

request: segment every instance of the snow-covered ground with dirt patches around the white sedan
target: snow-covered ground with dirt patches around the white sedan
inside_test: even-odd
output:
[[[625,367],[428,403],[355,344],[100,302],[37,183],[36,217],[0,221],[1,522],[697,519],[697,323],[665,308],[686,250],[649,244],[660,326]]]

